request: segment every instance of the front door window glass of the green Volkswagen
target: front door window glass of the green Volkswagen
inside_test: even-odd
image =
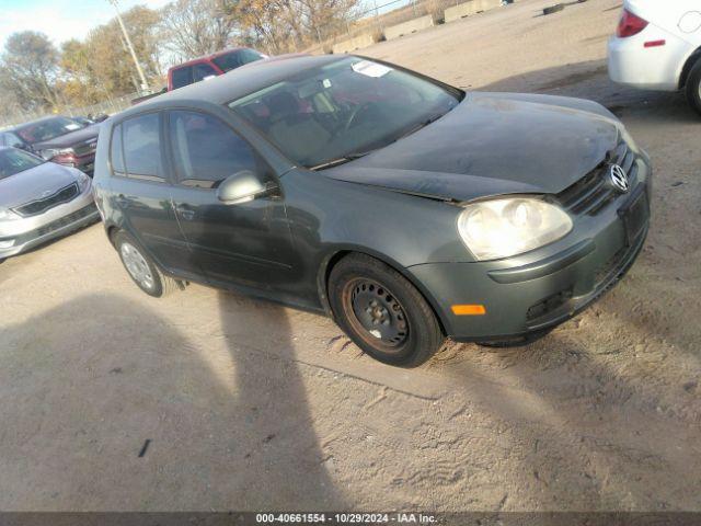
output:
[[[180,184],[214,188],[243,170],[261,174],[261,163],[249,144],[211,115],[173,111],[169,134]]]

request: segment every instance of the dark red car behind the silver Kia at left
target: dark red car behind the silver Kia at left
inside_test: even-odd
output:
[[[16,126],[12,132],[47,161],[92,175],[100,125],[51,116]]]

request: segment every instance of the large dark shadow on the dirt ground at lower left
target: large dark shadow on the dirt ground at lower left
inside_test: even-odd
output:
[[[220,295],[207,331],[225,333],[209,348],[112,294],[3,328],[0,508],[344,507],[285,311],[266,309],[290,359],[262,357],[239,343],[256,309],[237,301]]]

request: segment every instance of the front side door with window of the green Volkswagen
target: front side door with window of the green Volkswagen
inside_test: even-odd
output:
[[[172,199],[197,265],[215,284],[285,288],[291,278],[292,243],[279,194],[227,205],[217,186],[243,170],[272,181],[252,147],[218,117],[195,111],[169,112]]]

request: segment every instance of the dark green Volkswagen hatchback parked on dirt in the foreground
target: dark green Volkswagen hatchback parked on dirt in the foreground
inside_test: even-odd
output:
[[[599,104],[354,56],[256,62],[103,132],[96,203],[147,294],[195,281],[325,311],[395,365],[447,335],[543,334],[648,228],[650,159]]]

